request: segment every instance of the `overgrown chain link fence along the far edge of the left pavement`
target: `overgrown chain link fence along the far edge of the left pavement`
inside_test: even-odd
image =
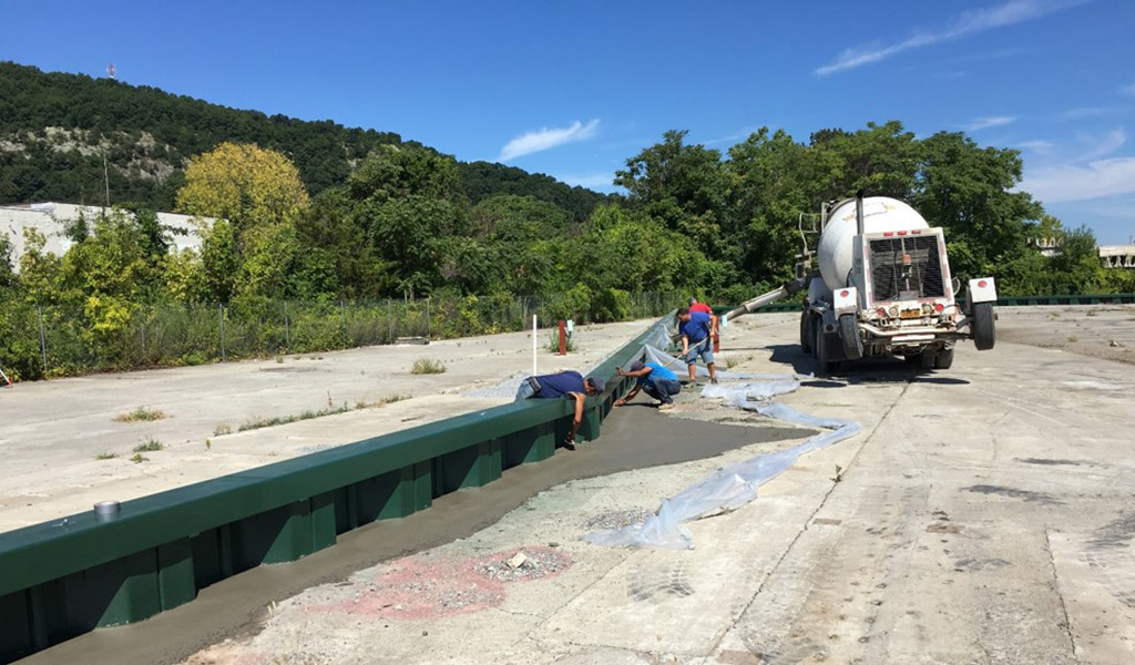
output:
[[[600,294],[602,296],[602,294]],[[415,301],[129,305],[116,317],[81,306],[8,304],[0,312],[0,368],[32,380],[98,371],[195,365],[287,353],[446,339],[580,323],[661,317],[678,293],[615,292],[581,309],[557,297],[485,296]]]

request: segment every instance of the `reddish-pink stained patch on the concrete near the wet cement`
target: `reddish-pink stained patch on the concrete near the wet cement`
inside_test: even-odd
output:
[[[513,570],[505,562],[518,552],[529,563]],[[535,564],[535,565],[533,565]],[[507,596],[506,587],[552,578],[571,567],[566,554],[548,547],[518,547],[507,552],[464,559],[437,559],[414,555],[393,562],[375,580],[345,589],[362,589],[330,605],[313,605],[314,613],[343,613],[375,618],[432,620],[496,607]]]

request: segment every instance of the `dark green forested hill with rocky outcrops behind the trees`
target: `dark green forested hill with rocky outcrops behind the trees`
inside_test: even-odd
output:
[[[0,62],[0,203],[101,202],[106,157],[112,202],[173,210],[186,161],[225,141],[288,155],[310,194],[343,184],[379,145],[420,145],[390,132],[268,116],[155,87]],[[460,172],[473,203],[502,193],[531,195],[585,219],[606,200],[502,165],[462,163]]]

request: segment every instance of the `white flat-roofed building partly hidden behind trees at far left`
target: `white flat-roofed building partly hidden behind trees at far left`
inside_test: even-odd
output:
[[[23,203],[0,205],[0,233],[8,234],[14,245],[12,263],[19,269],[19,258],[24,254],[24,229],[34,228],[47,238],[44,251],[62,255],[72,246],[67,238],[67,222],[81,214],[89,220],[107,209],[101,205],[76,205],[74,203]],[[199,220],[188,214],[159,212],[158,220],[171,233],[167,235],[170,249],[176,251],[200,249],[201,236],[197,233]],[[204,219],[205,224],[212,221]],[[173,233],[179,229],[184,233]]]

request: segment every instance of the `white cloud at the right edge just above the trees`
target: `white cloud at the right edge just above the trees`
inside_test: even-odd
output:
[[[1041,169],[1026,176],[1018,188],[1044,203],[1132,194],[1135,193],[1135,157]]]

